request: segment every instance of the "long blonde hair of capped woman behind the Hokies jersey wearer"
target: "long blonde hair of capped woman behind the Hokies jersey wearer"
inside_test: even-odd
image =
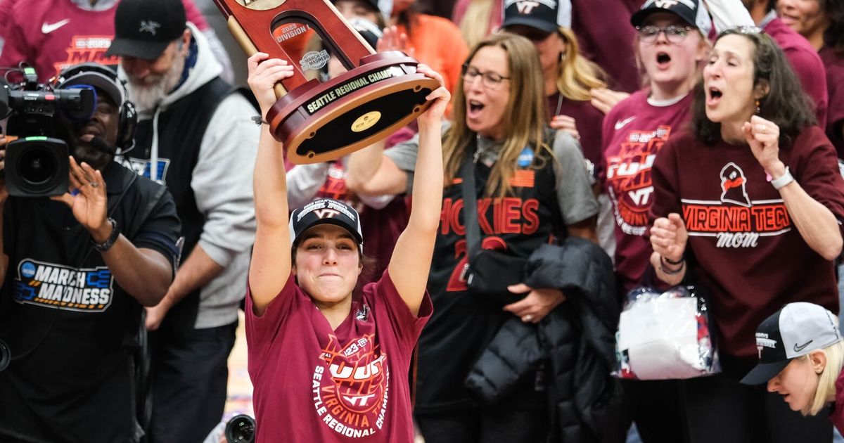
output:
[[[566,46],[565,57],[559,63],[557,71],[557,89],[560,90],[560,95],[569,100],[592,100],[589,89],[606,88],[607,73],[581,55],[574,32],[560,26],[557,33]]]

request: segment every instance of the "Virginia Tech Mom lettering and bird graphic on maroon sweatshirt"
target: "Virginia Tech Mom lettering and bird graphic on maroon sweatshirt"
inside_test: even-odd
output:
[[[681,199],[689,235],[710,237],[717,247],[756,247],[760,237],[782,235],[792,228],[781,198],[751,200],[748,179],[733,162],[721,169],[718,200]]]

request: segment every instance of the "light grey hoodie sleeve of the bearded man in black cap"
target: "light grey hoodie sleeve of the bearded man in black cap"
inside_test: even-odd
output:
[[[255,169],[261,128],[243,95],[226,97],[208,122],[193,168],[191,188],[205,218],[199,246],[214,262],[226,267],[255,241]]]

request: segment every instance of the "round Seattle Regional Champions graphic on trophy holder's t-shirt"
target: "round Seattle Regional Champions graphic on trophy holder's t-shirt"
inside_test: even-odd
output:
[[[320,357],[324,364],[314,369],[314,408],[340,435],[365,437],[384,426],[390,370],[374,339],[369,334],[342,346],[332,335]]]

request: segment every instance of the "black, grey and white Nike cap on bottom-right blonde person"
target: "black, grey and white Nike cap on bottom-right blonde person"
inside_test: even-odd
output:
[[[837,317],[814,303],[789,303],[756,329],[759,364],[744,375],[745,385],[767,383],[792,359],[841,342]]]

